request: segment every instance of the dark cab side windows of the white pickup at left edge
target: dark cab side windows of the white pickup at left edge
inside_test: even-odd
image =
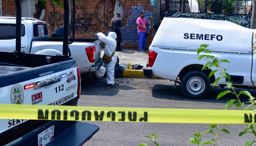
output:
[[[25,27],[21,25],[21,36],[25,36]],[[0,24],[0,40],[15,39],[16,24]]]

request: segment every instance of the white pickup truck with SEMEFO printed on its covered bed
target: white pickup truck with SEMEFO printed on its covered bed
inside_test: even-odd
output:
[[[220,72],[208,79],[211,70],[201,72],[210,59],[197,60],[201,44],[210,45],[211,55],[227,59],[221,66],[231,75],[234,87],[256,86],[256,31],[221,20],[164,18],[149,47],[146,77],[160,77],[171,81],[177,78],[187,98],[202,99]],[[202,53],[200,53],[202,54]],[[225,78],[218,84],[224,88]]]

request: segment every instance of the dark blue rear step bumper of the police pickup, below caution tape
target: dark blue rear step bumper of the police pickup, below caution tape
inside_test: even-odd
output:
[[[99,126],[76,121],[51,121],[34,131],[33,135],[16,143],[15,146],[38,145],[38,134],[54,125],[54,139],[47,146],[81,146],[88,141],[97,131]]]

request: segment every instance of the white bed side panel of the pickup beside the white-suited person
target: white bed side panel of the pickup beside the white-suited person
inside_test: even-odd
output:
[[[35,54],[62,54],[62,38],[48,38],[32,42],[31,53]],[[71,41],[71,39],[69,40]],[[87,54],[87,47],[95,47],[95,61],[90,62]],[[69,45],[71,57],[74,58],[80,67],[81,73],[89,73],[91,66],[101,59],[101,41],[99,39],[79,39]],[[38,51],[39,50],[39,51]]]

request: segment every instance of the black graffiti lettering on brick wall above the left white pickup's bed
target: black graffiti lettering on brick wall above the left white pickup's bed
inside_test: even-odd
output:
[[[51,5],[51,4],[50,4]],[[48,15],[48,23],[50,30],[54,32],[58,27],[64,25],[64,14],[56,11],[56,5],[51,5],[53,11],[50,11]],[[75,29],[76,32],[88,33],[88,32],[99,32],[100,26],[97,23],[93,23],[95,18],[94,14],[86,13],[87,7],[85,5],[76,5],[76,11],[78,12],[75,18]],[[71,10],[72,11],[72,10]],[[72,18],[71,18],[72,19]],[[72,27],[71,23],[71,27]]]

